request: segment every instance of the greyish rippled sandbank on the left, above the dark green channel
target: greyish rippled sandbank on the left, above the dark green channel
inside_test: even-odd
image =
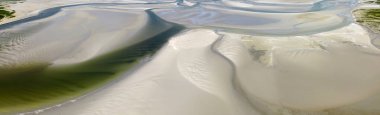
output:
[[[144,41],[171,27],[162,22],[150,24],[150,21],[143,10],[102,9],[100,6],[64,8],[51,17],[2,30],[18,36],[0,41],[4,45],[0,52],[0,71],[80,64]]]

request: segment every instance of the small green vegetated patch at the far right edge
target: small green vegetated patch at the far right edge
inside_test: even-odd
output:
[[[356,22],[375,33],[380,33],[380,9],[358,9],[353,14]]]

